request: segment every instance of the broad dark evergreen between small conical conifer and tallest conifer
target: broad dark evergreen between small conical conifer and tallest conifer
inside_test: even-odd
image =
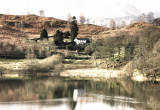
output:
[[[56,31],[54,35],[54,43],[55,45],[63,44],[63,32],[60,30]]]

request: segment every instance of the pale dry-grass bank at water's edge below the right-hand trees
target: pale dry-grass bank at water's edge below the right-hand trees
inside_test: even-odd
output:
[[[106,70],[99,68],[88,68],[88,69],[74,69],[65,70],[60,73],[62,77],[69,77],[74,79],[96,79],[96,80],[107,80],[107,79],[122,79],[130,77],[133,81],[145,82],[151,81],[151,78],[140,74],[139,72],[134,72],[132,76],[128,76],[121,70]],[[160,81],[160,79],[156,79]]]

